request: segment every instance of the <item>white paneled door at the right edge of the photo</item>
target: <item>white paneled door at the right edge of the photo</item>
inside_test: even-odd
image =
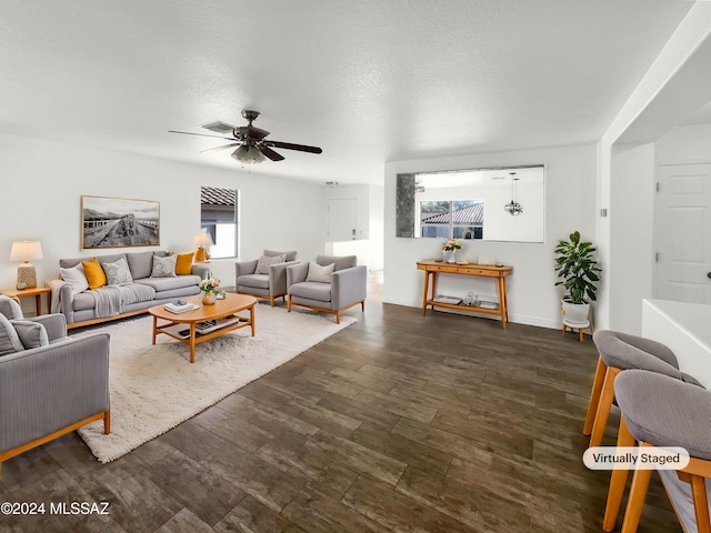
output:
[[[711,304],[711,163],[660,165],[657,174],[654,296]]]

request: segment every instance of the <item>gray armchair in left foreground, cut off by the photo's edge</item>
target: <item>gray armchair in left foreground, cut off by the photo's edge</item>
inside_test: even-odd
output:
[[[110,433],[107,333],[69,338],[63,314],[26,319],[0,295],[0,467],[96,420]]]

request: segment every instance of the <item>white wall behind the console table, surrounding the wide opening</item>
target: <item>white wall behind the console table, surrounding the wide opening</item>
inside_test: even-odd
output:
[[[398,173],[545,164],[545,242],[465,242],[462,254],[489,255],[513,265],[513,274],[507,279],[511,322],[560,328],[562,289],[553,286],[553,249],[559,239],[567,239],[575,230],[583,238],[594,238],[595,158],[595,147],[585,144],[387,163],[383,301],[421,306],[423,274],[415,262],[441,258],[439,240],[394,237]],[[439,292],[497,293],[490,280],[461,278],[440,276]]]

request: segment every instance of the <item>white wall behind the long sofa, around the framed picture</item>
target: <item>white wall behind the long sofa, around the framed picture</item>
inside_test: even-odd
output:
[[[323,253],[322,187],[241,169],[226,171],[94,150],[59,142],[0,135],[0,286],[14,286],[12,241],[40,240],[44,259],[36,261],[40,283],[58,273],[60,258],[114,253],[81,250],[81,195],[160,202],[160,247],[194,250],[200,231],[200,187],[241,192],[240,257],[257,259],[262,249],[298,250],[309,260]],[[120,250],[144,250],[142,248]],[[212,262],[213,275],[234,284],[234,260]]]

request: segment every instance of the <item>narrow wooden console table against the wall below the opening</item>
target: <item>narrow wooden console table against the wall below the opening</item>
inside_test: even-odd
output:
[[[443,263],[441,261],[418,261],[418,269],[424,271],[424,290],[422,291],[422,315],[427,313],[427,306],[432,309],[449,308],[463,311],[472,311],[477,313],[497,314],[501,316],[501,326],[507,328],[509,312],[507,309],[507,283],[505,278],[511,275],[513,266],[484,266],[482,264],[458,264]],[[458,274],[458,275],[478,275],[482,278],[493,278],[497,280],[499,289],[498,309],[480,308],[475,305],[461,305],[454,303],[435,302],[437,296],[437,279],[440,273]],[[430,278],[432,281],[430,282]],[[430,292],[431,288],[431,292]]]

